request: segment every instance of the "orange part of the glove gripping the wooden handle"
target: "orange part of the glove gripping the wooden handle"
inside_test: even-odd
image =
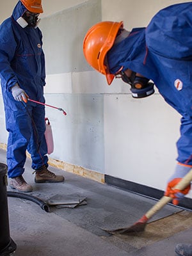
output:
[[[166,191],[164,193],[165,196],[170,196],[173,198],[172,202],[175,205],[179,204],[179,200],[184,198],[185,195],[189,193],[189,190],[191,189],[191,185],[189,185],[184,190],[174,189],[174,187],[180,182],[181,178],[175,178],[168,182]]]

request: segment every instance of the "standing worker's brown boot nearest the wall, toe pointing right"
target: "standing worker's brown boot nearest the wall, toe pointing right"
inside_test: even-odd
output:
[[[35,182],[63,182],[65,178],[61,175],[55,175],[54,173],[47,170],[47,167],[43,165],[40,169],[35,172]]]

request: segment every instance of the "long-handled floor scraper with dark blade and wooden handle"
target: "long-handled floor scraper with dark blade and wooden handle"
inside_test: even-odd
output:
[[[175,189],[183,190],[185,189],[192,181],[192,169],[186,176],[180,180],[180,182],[175,186]],[[109,234],[129,234],[130,232],[141,232],[145,230],[145,226],[147,225],[147,221],[154,216],[158,211],[160,211],[164,205],[168,204],[172,201],[173,198],[170,196],[163,196],[157,204],[155,204],[150,210],[148,210],[136,223],[134,223],[131,227],[126,228],[118,228],[114,230],[105,230]]]

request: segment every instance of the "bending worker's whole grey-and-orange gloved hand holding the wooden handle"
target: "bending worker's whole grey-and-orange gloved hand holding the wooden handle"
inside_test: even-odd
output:
[[[174,189],[174,187],[180,182],[180,180],[191,170],[191,166],[177,164],[175,172],[168,180],[167,188],[164,193],[165,196],[170,196],[173,198],[173,204],[178,205],[179,200],[184,198],[185,195],[189,193],[191,185],[189,185],[184,190]]]

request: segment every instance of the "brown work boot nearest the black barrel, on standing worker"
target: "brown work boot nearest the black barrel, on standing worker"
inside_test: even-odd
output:
[[[33,191],[33,187],[29,185],[26,180],[20,175],[19,177],[15,177],[10,181],[10,188],[17,189],[19,192],[31,192]]]

